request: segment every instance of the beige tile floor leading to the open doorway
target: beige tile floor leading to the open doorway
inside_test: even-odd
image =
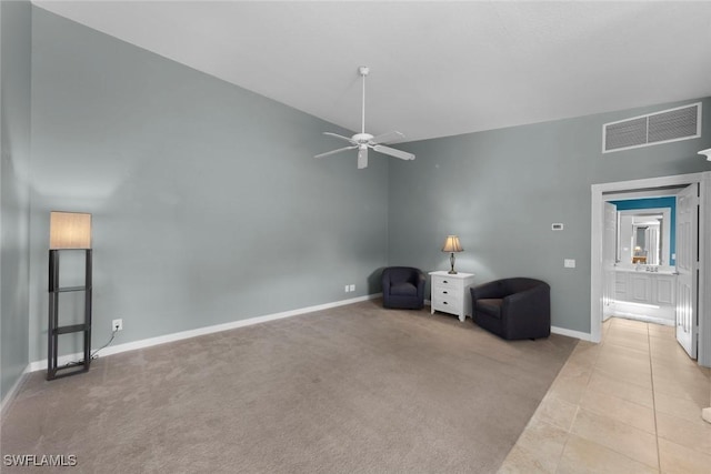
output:
[[[711,370],[674,329],[611,317],[580,342],[499,473],[711,473]]]

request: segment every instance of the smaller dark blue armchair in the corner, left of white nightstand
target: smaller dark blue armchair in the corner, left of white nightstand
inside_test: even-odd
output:
[[[412,266],[388,266],[382,271],[382,305],[404,310],[424,307],[424,273]]]

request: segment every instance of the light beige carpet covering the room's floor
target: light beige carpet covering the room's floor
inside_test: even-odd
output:
[[[33,373],[1,452],[76,455],[72,473],[493,473],[575,343],[368,301]]]

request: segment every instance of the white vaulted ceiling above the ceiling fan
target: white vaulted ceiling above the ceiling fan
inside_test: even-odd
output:
[[[711,95],[711,2],[34,1],[405,141]]]

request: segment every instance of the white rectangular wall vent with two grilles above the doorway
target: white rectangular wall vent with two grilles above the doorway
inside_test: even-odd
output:
[[[701,102],[602,125],[602,152],[701,137]]]

